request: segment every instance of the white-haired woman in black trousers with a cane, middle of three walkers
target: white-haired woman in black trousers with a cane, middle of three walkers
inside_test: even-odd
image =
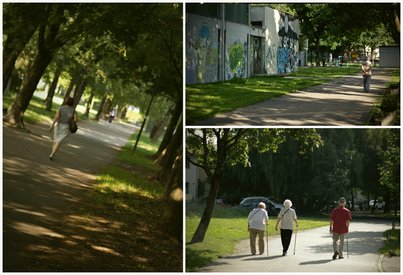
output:
[[[293,235],[294,230],[293,221],[298,226],[297,215],[295,214],[294,209],[291,209],[292,205],[293,204],[290,200],[284,201],[285,208],[280,211],[275,228],[276,231],[279,231],[277,227],[280,223],[281,243],[283,244],[283,256],[287,255],[287,250],[290,246],[291,236]]]

